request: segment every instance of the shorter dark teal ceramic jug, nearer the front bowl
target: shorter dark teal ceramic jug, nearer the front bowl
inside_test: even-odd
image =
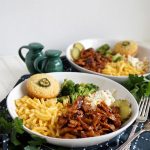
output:
[[[61,51],[59,50],[47,50],[44,56],[39,56],[35,59],[35,70],[40,73],[63,71],[63,64],[60,55]]]

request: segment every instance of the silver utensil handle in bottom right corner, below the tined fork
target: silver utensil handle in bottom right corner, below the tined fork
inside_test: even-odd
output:
[[[124,150],[124,148],[131,143],[137,136],[139,136],[141,133],[145,131],[150,131],[150,121],[148,121],[145,125],[144,128],[137,133],[135,133],[132,137],[130,137],[124,144],[122,144],[117,150]]]

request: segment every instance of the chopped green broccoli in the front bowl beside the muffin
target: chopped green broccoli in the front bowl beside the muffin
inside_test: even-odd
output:
[[[98,90],[98,86],[87,83],[87,84],[75,84],[72,80],[64,80],[61,86],[60,96],[69,96],[71,103],[77,99],[78,96],[86,96],[92,94]]]

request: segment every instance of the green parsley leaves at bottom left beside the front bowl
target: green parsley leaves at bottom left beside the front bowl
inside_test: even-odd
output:
[[[40,150],[40,147],[46,143],[45,139],[35,135],[30,136],[24,131],[21,119],[15,118],[12,120],[8,116],[8,111],[5,109],[0,110],[0,134],[8,134],[10,136],[9,149]]]

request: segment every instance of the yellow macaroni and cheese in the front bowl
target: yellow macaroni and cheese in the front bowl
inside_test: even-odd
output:
[[[23,124],[32,131],[59,137],[57,120],[65,109],[56,98],[44,100],[24,96],[16,100],[16,112],[23,119]]]

